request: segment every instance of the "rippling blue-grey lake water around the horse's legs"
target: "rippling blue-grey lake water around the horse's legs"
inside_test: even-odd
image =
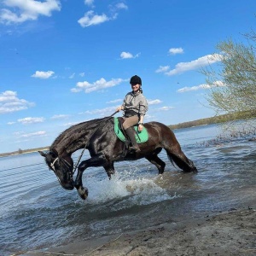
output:
[[[110,181],[103,168],[89,168],[83,177],[86,201],[75,189],[62,189],[38,153],[0,158],[0,255],[256,206],[256,142],[216,143],[217,125],[175,134],[198,174],[180,172],[164,151],[162,176],[147,160],[115,163]]]

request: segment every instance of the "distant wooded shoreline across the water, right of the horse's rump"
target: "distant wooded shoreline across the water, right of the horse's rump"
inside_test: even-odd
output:
[[[243,117],[244,117],[244,119],[252,118],[252,115],[251,115],[251,113],[248,113],[248,114],[244,113]],[[168,127],[170,129],[174,130],[174,129],[181,129],[181,128],[189,128],[189,127],[193,127],[193,126],[200,126],[200,125],[211,125],[211,124],[225,123],[225,122],[234,121],[237,119],[240,119],[240,118],[238,118],[237,114],[223,114],[223,115],[214,116],[212,118],[198,119],[195,121],[184,122],[184,123],[180,123],[177,125],[168,125]]]

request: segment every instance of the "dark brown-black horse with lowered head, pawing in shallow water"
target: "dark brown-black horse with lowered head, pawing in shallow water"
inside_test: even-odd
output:
[[[172,164],[174,162],[183,172],[197,172],[193,161],[183,153],[177,138],[168,126],[153,121],[145,123],[143,129],[148,131],[148,141],[139,143],[139,152],[125,150],[125,143],[116,136],[114,120],[110,116],[72,125],[55,138],[48,152],[38,151],[38,153],[44,156],[49,170],[55,172],[61,187],[69,190],[76,188],[83,200],[88,196],[88,189],[82,182],[86,168],[102,166],[110,179],[115,172],[113,166],[115,161],[145,158],[157,167],[159,174],[162,174],[166,166],[166,163],[158,157],[162,148],[166,150]],[[77,168],[77,176],[73,180],[77,166],[73,167],[72,154],[82,148],[89,150],[90,158],[81,161]]]

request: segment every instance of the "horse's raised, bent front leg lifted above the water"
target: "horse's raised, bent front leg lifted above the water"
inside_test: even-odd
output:
[[[88,167],[106,166],[107,162],[108,161],[103,155],[98,155],[88,160],[84,160],[79,164],[78,174],[75,179],[74,186],[78,190],[79,196],[82,199],[85,200],[88,196],[88,189],[83,186],[83,181],[82,181],[84,170]]]

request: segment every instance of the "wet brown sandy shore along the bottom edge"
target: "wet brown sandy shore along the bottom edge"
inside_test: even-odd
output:
[[[256,255],[256,210],[233,209],[214,216],[173,220],[147,230],[79,241],[26,255],[253,256]]]

